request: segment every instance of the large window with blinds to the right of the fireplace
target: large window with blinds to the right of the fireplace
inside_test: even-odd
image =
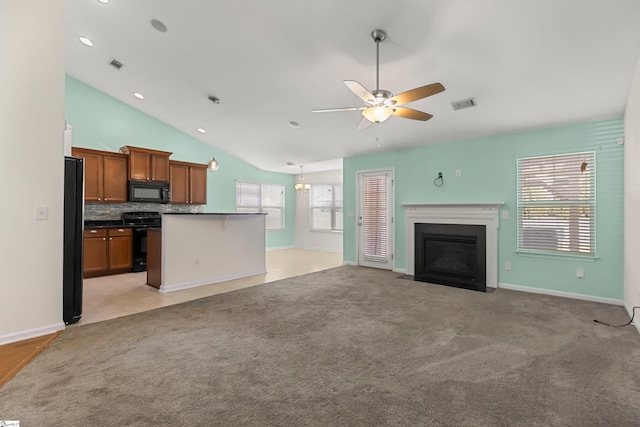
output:
[[[595,256],[595,154],[518,159],[518,250]]]

